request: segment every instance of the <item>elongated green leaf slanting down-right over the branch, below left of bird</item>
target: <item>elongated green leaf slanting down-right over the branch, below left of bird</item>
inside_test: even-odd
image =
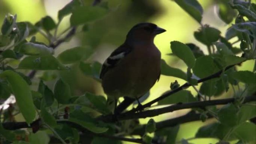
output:
[[[106,132],[109,128],[98,126],[95,123],[95,120],[92,119],[88,114],[83,113],[80,110],[75,110],[74,112],[70,113],[70,118],[68,119],[70,122],[74,122],[83,126],[84,128],[88,129],[94,133],[103,133]]]

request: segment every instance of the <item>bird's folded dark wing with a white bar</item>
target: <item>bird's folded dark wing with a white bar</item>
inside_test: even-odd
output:
[[[111,55],[105,60],[102,65],[100,72],[100,79],[103,78],[104,74],[110,69],[115,67],[118,62],[124,58],[128,53],[132,50],[131,46],[123,44],[119,46],[116,50],[114,50]]]

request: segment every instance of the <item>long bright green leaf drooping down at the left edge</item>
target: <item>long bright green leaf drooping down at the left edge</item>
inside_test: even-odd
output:
[[[4,71],[0,74],[0,76],[6,77],[7,81],[10,83],[19,110],[24,116],[26,122],[33,122],[34,118],[36,117],[36,109],[34,107],[32,94],[27,82],[22,79],[19,74],[11,70]]]

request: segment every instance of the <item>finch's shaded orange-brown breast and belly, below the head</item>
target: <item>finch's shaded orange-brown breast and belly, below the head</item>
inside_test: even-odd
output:
[[[107,95],[131,98],[144,95],[160,74],[161,53],[155,45],[138,45],[103,77]]]

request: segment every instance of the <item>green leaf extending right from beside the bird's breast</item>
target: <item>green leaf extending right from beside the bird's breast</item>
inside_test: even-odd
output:
[[[161,60],[161,74],[165,76],[178,77],[183,80],[187,80],[186,73],[179,68],[170,67],[164,59]]]

